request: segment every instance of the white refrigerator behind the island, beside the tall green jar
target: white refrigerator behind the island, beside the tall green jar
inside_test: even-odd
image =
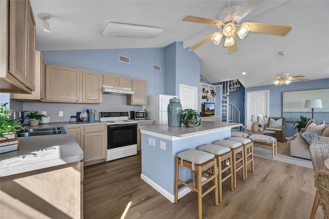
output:
[[[153,124],[168,124],[168,104],[170,99],[177,96],[155,95],[148,97],[148,119],[153,119]]]

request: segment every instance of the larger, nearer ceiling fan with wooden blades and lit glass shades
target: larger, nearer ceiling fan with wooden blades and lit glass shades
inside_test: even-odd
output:
[[[226,36],[224,46],[228,47],[228,53],[231,54],[237,51],[236,34],[240,39],[244,39],[249,31],[267,33],[274,35],[286,35],[290,30],[290,26],[276,25],[276,24],[264,24],[245,22],[240,24],[242,19],[250,13],[255,7],[257,7],[263,1],[247,1],[242,6],[234,5],[228,6],[218,13],[218,20],[209,19],[206,17],[198,17],[193,15],[187,15],[182,21],[194,22],[200,24],[207,24],[217,26],[218,31],[210,34],[204,40],[198,42],[191,47],[195,50],[199,46],[203,45],[207,41],[211,40],[214,44],[220,44],[223,36]]]

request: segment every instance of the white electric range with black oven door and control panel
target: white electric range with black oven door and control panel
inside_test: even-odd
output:
[[[128,117],[128,112],[99,113],[107,125],[106,162],[137,154],[137,122]]]

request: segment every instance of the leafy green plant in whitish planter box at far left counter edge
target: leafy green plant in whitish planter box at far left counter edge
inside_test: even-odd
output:
[[[19,150],[19,139],[16,131],[24,130],[20,123],[10,119],[9,115],[12,110],[6,109],[7,103],[0,108],[0,153]]]

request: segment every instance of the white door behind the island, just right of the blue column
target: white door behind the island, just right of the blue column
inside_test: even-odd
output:
[[[197,109],[197,87],[179,84],[179,99],[182,110]]]

